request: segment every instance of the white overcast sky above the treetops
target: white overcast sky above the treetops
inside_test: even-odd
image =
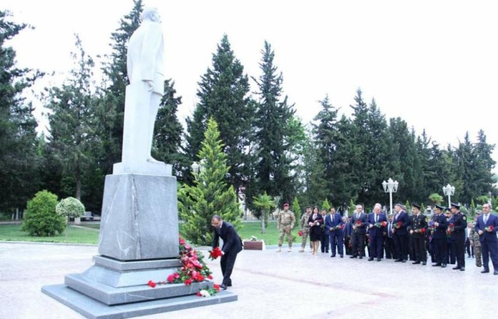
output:
[[[166,77],[176,82],[189,116],[197,82],[211,67],[223,33],[248,75],[258,77],[264,40],[275,50],[283,87],[304,123],[325,94],[350,113],[356,89],[418,134],[443,147],[484,129],[498,141],[498,1],[144,1],[161,13]],[[110,33],[132,0],[3,0],[16,21],[35,26],[10,41],[18,65],[55,72],[72,67],[73,34],[87,52],[110,53]],[[47,85],[49,77],[34,90]],[[254,85],[254,83],[252,83]],[[255,89],[253,89],[255,90]],[[41,110],[37,117],[41,118]],[[498,152],[494,158],[498,161]]]

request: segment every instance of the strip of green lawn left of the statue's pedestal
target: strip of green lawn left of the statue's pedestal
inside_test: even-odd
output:
[[[78,244],[98,244],[99,232],[96,229],[73,227],[54,237],[32,237],[21,230],[21,225],[0,225],[0,240],[15,242],[66,242]]]

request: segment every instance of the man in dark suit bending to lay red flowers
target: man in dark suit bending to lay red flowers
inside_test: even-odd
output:
[[[229,222],[221,220],[221,217],[214,215],[211,218],[211,225],[214,227],[213,249],[218,246],[218,242],[223,239],[223,247],[221,248],[221,274],[223,274],[223,282],[220,288],[225,290],[226,287],[232,286],[233,265],[237,254],[242,251],[242,241],[235,230],[235,227]]]

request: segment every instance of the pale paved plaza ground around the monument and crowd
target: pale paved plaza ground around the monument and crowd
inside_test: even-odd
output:
[[[41,293],[66,274],[92,266],[96,246],[0,243],[0,318],[80,319]],[[215,279],[219,261],[206,260]],[[137,318],[491,318],[496,316],[498,276],[466,259],[466,271],[330,258],[309,252],[244,251],[230,291],[238,301]],[[491,271],[492,271],[491,266]],[[145,283],[144,283],[145,284]],[[201,298],[201,297],[199,297]]]

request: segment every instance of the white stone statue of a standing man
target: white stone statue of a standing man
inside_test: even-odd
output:
[[[134,94],[139,98],[134,99],[134,105],[128,105],[132,103],[127,101],[124,110],[125,117],[127,117],[127,108],[132,107],[139,108],[135,112],[142,114],[137,118],[134,112],[132,129],[126,127],[127,121],[125,119],[124,134],[139,134],[141,138],[134,139],[133,144],[135,145],[131,146],[132,150],[125,150],[127,143],[123,143],[123,161],[125,161],[125,152],[130,151],[133,152],[132,156],[136,158],[146,156],[147,161],[155,161],[150,153],[152,135],[154,134],[154,122],[159,103],[164,94],[164,38],[161,30],[161,18],[155,8],[144,9],[142,24],[129,38],[127,72],[129,86],[134,87]],[[131,119],[129,120],[131,121]],[[147,154],[142,154],[142,152],[147,152]]]

